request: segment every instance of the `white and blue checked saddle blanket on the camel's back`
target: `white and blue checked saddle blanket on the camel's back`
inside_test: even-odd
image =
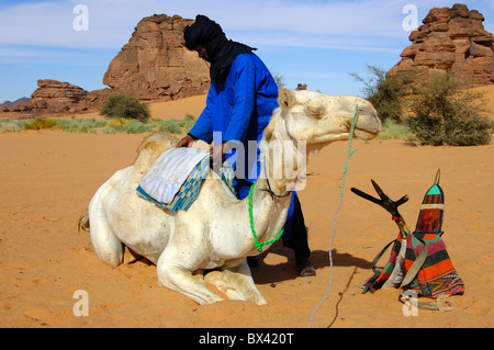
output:
[[[158,206],[187,211],[199,194],[210,170],[210,153],[197,148],[170,148],[161,154],[141,184],[137,194]],[[222,179],[232,193],[234,170],[223,163]]]

